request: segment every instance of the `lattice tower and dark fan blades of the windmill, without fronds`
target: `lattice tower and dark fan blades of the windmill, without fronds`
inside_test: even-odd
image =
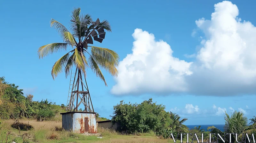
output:
[[[100,20],[97,19],[95,21],[95,24],[100,24]],[[87,49],[88,44],[93,44],[93,40],[101,43],[105,38],[105,35],[106,32],[102,27],[98,29],[97,32],[96,30],[88,31],[86,33],[86,36],[88,36],[88,38],[83,45],[84,48]],[[86,77],[81,73],[81,70],[76,67],[76,71],[71,71],[70,75],[66,111],[78,111],[78,107],[81,104],[84,106],[84,109],[82,108],[84,112],[94,112],[90,92],[86,82]]]

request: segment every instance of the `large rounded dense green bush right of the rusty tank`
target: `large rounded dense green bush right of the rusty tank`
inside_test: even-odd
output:
[[[121,131],[126,133],[160,132],[167,128],[170,123],[170,114],[165,106],[153,103],[152,98],[140,104],[126,104],[123,101],[114,106],[112,122],[121,124]]]

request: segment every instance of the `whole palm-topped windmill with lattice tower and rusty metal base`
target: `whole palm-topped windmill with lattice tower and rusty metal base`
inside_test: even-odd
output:
[[[72,11],[71,33],[60,22],[51,20],[51,27],[57,29],[63,42],[40,47],[38,56],[43,58],[61,50],[66,51],[68,46],[72,47],[72,50],[60,57],[52,67],[53,79],[60,72],[65,71],[66,77],[71,72],[66,112],[60,113],[62,128],[76,133],[97,133],[96,113],[86,81],[86,68],[90,67],[107,86],[100,68],[105,69],[112,76],[117,76],[116,66],[119,56],[110,49],[88,45],[93,44],[94,41],[101,43],[106,35],[104,30],[111,32],[111,26],[107,20],[100,22],[97,19],[94,22],[91,15],[80,14],[80,11],[80,8],[75,8]],[[74,69],[72,69],[73,66]],[[78,110],[79,107],[82,107],[81,110]]]

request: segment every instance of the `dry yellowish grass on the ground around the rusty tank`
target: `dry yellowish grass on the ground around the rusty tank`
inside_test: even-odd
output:
[[[33,126],[32,131],[18,131],[13,129],[11,125],[16,120],[5,120],[4,128],[9,129],[13,136],[10,138],[18,139],[22,142],[22,135],[29,136],[29,142],[76,142],[76,143],[167,143],[172,140],[160,139],[153,132],[142,133],[137,135],[121,135],[119,132],[110,129],[98,128],[98,132],[102,134],[102,139],[94,136],[85,136],[72,132],[62,131],[61,122],[36,120],[19,120],[20,123],[26,123]],[[16,134],[16,135],[15,135]],[[20,136],[19,136],[20,134]],[[138,136],[139,135],[139,136]]]

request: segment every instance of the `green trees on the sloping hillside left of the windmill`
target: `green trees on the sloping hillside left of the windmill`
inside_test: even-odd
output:
[[[18,88],[0,77],[0,119],[35,118],[44,121],[55,117],[61,109],[47,99],[33,101],[33,95],[24,96],[23,90]]]

